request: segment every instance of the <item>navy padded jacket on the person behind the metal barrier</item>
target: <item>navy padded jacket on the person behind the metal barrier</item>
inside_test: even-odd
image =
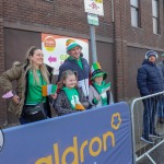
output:
[[[144,60],[138,70],[137,84],[141,96],[164,91],[162,69],[155,63]]]

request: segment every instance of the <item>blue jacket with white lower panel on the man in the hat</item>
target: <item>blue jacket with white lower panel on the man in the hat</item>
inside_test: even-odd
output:
[[[81,58],[83,69],[79,67],[75,60],[72,59],[66,59],[65,62],[59,67],[59,75],[58,81],[61,78],[61,74],[66,70],[72,70],[78,72],[78,85],[79,87],[82,87],[84,95],[89,96],[89,74],[90,74],[90,66],[87,63],[87,60],[84,58]]]

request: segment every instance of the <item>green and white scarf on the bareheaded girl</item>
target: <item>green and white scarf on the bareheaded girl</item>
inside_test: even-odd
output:
[[[75,109],[75,98],[79,98],[79,93],[77,89],[62,87],[62,90],[65,91],[72,109]]]

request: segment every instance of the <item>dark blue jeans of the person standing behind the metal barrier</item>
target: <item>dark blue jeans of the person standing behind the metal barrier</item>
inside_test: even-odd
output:
[[[150,133],[155,131],[155,115],[159,108],[159,99],[156,97],[143,99],[143,137],[148,138]]]

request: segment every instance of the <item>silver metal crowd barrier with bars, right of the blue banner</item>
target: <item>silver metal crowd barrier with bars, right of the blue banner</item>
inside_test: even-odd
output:
[[[154,159],[151,156],[151,153],[157,149],[164,142],[164,139],[152,138],[154,143],[145,143],[140,140],[143,130],[143,101],[150,98],[156,98],[160,105],[164,104],[164,101],[161,98],[164,95],[164,92],[159,92],[156,94],[151,94],[149,96],[139,97],[132,101],[131,103],[131,122],[132,122],[132,141],[133,141],[133,163],[141,162],[144,157],[148,157],[151,163],[156,164]],[[148,101],[149,102],[149,101]],[[157,108],[160,106],[154,106]],[[163,107],[163,106],[162,106]],[[163,107],[164,108],[164,107]],[[164,124],[160,124],[157,120],[157,114],[155,116],[155,129],[160,134],[164,134]]]

